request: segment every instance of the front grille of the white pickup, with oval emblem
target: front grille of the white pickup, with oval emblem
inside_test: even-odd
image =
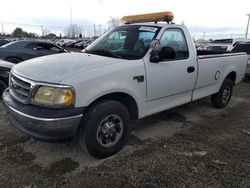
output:
[[[10,94],[17,101],[27,104],[31,96],[31,83],[13,74],[10,75]]]

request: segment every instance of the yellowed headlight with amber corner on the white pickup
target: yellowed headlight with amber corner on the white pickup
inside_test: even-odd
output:
[[[40,86],[36,90],[32,102],[38,105],[72,106],[74,100],[72,88]]]

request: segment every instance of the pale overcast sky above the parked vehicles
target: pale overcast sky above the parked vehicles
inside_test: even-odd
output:
[[[193,36],[202,36],[206,32],[206,38],[218,38],[220,35],[236,37],[245,33],[250,0],[2,0],[0,22],[5,32],[19,26],[41,34],[40,25],[43,25],[51,32],[63,33],[69,25],[70,7],[72,22],[81,26],[88,35],[93,33],[94,24],[97,30],[104,30],[110,16],[121,18],[131,14],[172,11],[174,22],[184,21]]]

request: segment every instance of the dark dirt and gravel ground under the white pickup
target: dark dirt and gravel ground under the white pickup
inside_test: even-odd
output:
[[[0,104],[0,187],[249,187],[250,82],[222,110],[209,98],[134,123],[125,148],[96,160],[9,125]]]

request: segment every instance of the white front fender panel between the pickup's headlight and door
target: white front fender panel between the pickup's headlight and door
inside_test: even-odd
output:
[[[134,79],[143,76],[143,82]],[[139,116],[146,101],[146,76],[142,60],[121,61],[97,69],[76,74],[61,82],[71,85],[76,93],[76,107],[89,106],[98,98],[112,93],[124,93],[137,103]]]

